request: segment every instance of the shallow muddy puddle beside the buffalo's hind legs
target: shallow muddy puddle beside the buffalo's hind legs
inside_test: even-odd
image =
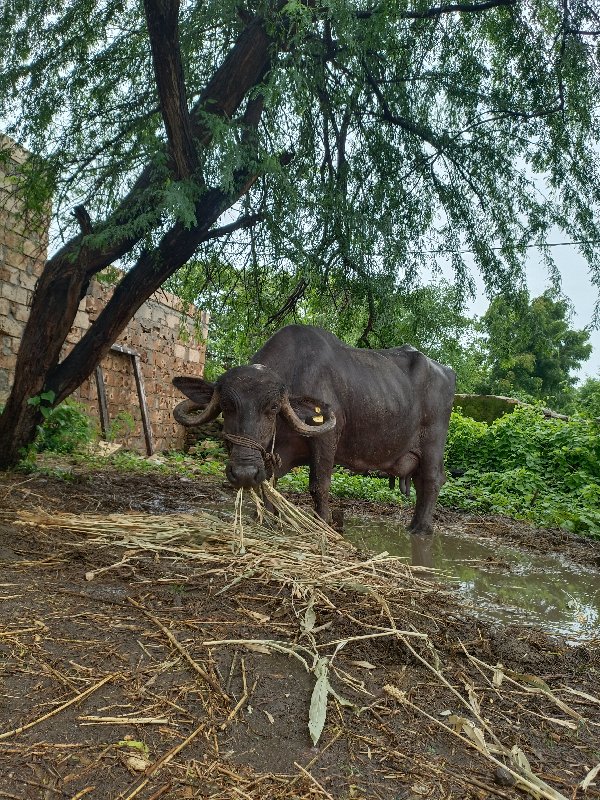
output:
[[[568,640],[600,637],[600,574],[557,553],[541,555],[445,529],[410,536],[391,521],[346,518],[344,536],[364,550],[405,556],[441,570],[475,613],[504,623],[532,625]]]

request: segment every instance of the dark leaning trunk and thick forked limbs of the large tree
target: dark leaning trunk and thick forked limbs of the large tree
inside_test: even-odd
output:
[[[232,118],[248,92],[259,86],[264,78],[272,42],[262,19],[253,19],[189,113],[179,53],[178,0],[145,0],[144,5],[172,170],[176,176],[193,175],[201,180],[195,147],[190,147],[190,136],[196,146],[208,147],[211,134],[203,126],[199,112]],[[169,49],[167,62],[164,61],[165,45]],[[261,112],[261,100],[252,99],[244,117],[249,130],[256,128]],[[14,466],[23,448],[35,438],[40,411],[28,400],[44,390],[52,390],[56,404],[73,392],[106,355],[137,309],[185,264],[201,242],[216,235],[210,230],[211,226],[248,191],[256,177],[249,173],[238,174],[236,188],[230,193],[206,189],[196,205],[196,225],[186,229],[176,224],[157,247],[144,251],[117,286],[96,322],[67,358],[59,362],[61,349],[91,278],[129,252],[142,236],[124,237],[117,244],[93,248],[88,244],[87,234],[98,233],[109,226],[125,225],[135,218],[136,209],[149,200],[154,178],[152,168],[147,167],[141,173],[114,214],[94,229],[85,211],[80,209],[78,218],[82,233],[46,262],[34,292],[17,356],[15,380],[0,416],[0,469]],[[156,223],[159,221],[157,218]],[[239,225],[251,224],[252,221],[244,219]],[[229,231],[232,227],[235,225],[221,230]]]

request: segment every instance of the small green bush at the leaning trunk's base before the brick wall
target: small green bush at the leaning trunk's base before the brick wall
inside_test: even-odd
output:
[[[49,395],[53,394],[46,392],[30,401],[32,405],[40,405],[44,416],[34,443],[35,450],[64,454],[81,451],[96,439],[96,426],[85,407],[73,400],[65,400],[54,408],[42,405],[44,401],[51,403],[54,396]]]

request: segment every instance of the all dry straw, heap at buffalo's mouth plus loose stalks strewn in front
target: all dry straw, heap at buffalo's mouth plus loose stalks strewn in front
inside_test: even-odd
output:
[[[373,729],[374,733],[371,731],[364,735],[361,732],[357,734],[357,739],[368,743],[368,747],[373,749],[373,754],[377,753],[377,757],[381,758],[383,763],[389,757],[390,748],[397,749],[398,737],[390,725],[383,721],[380,711],[383,709],[389,711],[391,707],[392,714],[403,714],[408,709],[414,715],[421,715],[432,725],[443,729],[449,738],[454,742],[460,742],[465,750],[473,748],[482,758],[507,771],[514,781],[513,785],[519,790],[529,793],[532,797],[565,800],[565,795],[554,789],[549,782],[534,775],[523,751],[516,745],[519,735],[516,731],[509,729],[507,733],[504,725],[505,742],[507,738],[513,737],[513,733],[515,742],[509,745],[500,741],[501,737],[496,732],[500,720],[495,720],[493,717],[495,706],[486,704],[486,710],[482,712],[482,703],[486,693],[493,695],[497,705],[502,705],[505,718],[506,716],[510,718],[511,709],[517,717],[524,713],[523,704],[527,699],[535,697],[535,711],[527,709],[525,713],[536,714],[539,717],[543,703],[546,703],[554,715],[562,713],[568,718],[544,715],[543,719],[550,724],[561,725],[568,729],[574,724],[572,720],[576,720],[577,726],[580,727],[586,726],[588,720],[557,698],[543,681],[538,679],[532,684],[532,676],[511,673],[499,664],[487,664],[471,656],[465,647],[463,651],[466,658],[463,661],[482,676],[483,682],[480,681],[479,685],[475,684],[474,678],[466,677],[464,666],[453,670],[451,663],[442,663],[443,659],[427,632],[419,630],[413,622],[410,625],[405,624],[404,629],[399,623],[400,608],[411,608],[411,620],[417,620],[419,615],[424,618],[428,614],[422,602],[423,598],[428,595],[439,597],[444,594],[437,584],[423,578],[421,568],[419,574],[416,574],[404,559],[392,557],[387,553],[365,560],[354,547],[322,520],[305,514],[270,486],[265,486],[263,491],[279,516],[267,512],[263,501],[252,494],[260,522],[251,521],[243,516],[241,494],[236,503],[233,520],[223,519],[208,511],[193,515],[160,516],[74,515],[18,511],[10,514],[5,512],[1,516],[17,525],[71,531],[77,534],[77,539],[65,541],[67,549],[110,547],[123,550],[121,558],[113,564],[89,570],[85,575],[88,581],[93,581],[97,576],[110,570],[129,569],[135,565],[137,559],[150,554],[153,559],[172,562],[175,565],[182,563],[187,567],[194,565],[203,574],[210,573],[215,578],[215,584],[217,579],[220,579],[222,585],[215,594],[232,591],[242,581],[255,582],[257,588],[264,587],[266,583],[285,587],[290,593],[297,621],[296,629],[289,636],[279,639],[235,637],[206,639],[197,646],[205,648],[204,652],[209,657],[214,648],[234,646],[237,649],[246,648],[251,652],[283,653],[301,663],[303,669],[312,676],[314,688],[310,707],[306,710],[306,719],[299,724],[306,726],[308,723],[308,733],[315,745],[320,741],[330,707],[335,706],[342,725],[343,717],[339,710],[350,707],[354,711],[353,726],[358,727],[359,723],[365,720],[370,722],[377,720],[381,723],[377,730]],[[347,633],[343,638],[328,636],[328,626],[317,625],[317,607],[325,607],[335,612],[348,623],[346,630],[353,632]],[[153,763],[143,762],[144,774],[136,778],[120,795],[127,800],[133,800],[144,790],[149,789],[155,777],[194,740],[209,735],[216,740],[215,731],[222,731],[231,723],[237,722],[239,716],[244,713],[255,687],[246,682],[242,658],[243,693],[237,702],[234,702],[228,691],[223,688],[222,683],[225,683],[223,676],[215,675],[211,666],[199,663],[198,656],[194,658],[169,629],[168,611],[167,618],[163,617],[164,622],[162,622],[142,602],[133,598],[129,598],[129,608],[137,609],[150,620],[158,635],[164,637],[165,642],[169,642],[169,646],[174,648],[178,657],[183,657],[187,665],[213,692],[212,699],[205,704],[207,719]],[[21,632],[24,630],[28,629],[22,628]],[[14,636],[15,631],[11,631],[10,635]],[[447,724],[440,721],[435,712],[431,713],[432,709],[426,701],[415,702],[414,697],[403,688],[391,683],[389,676],[381,676],[383,680],[380,681],[376,694],[373,687],[371,687],[373,691],[370,691],[363,680],[349,671],[353,668],[372,669],[376,675],[377,667],[374,665],[364,660],[355,660],[346,661],[343,668],[340,666],[338,654],[342,650],[350,649],[353,643],[381,638],[393,640],[407,658],[425,668],[432,684],[443,687],[448,693],[454,713],[451,714],[450,709],[448,710]],[[232,661],[232,670],[233,664]],[[487,678],[487,673],[492,675],[490,679]],[[33,728],[49,716],[58,715],[63,709],[78,703],[104,683],[111,681],[112,677],[109,675],[102,681],[95,682],[84,692],[75,692],[63,705],[33,722],[7,731],[0,735],[0,739],[17,737],[20,732]],[[341,691],[352,699],[346,699]],[[564,691],[569,690],[565,687]],[[575,690],[573,694],[577,694]],[[583,699],[591,704],[600,702],[595,696],[588,694]],[[456,713],[457,707],[461,714]],[[266,711],[264,713],[267,714]],[[149,726],[163,722],[162,715],[158,714],[152,717],[131,716],[128,719],[96,714],[84,715],[80,719],[98,725],[125,724],[131,723],[132,720],[137,720],[136,724]],[[330,742],[321,749],[319,755],[332,746],[341,735],[339,729]],[[383,746],[382,742],[386,741],[388,745]],[[318,755],[315,756],[315,760],[317,758]],[[405,758],[417,767],[417,774],[423,780],[429,775],[434,775],[435,780],[438,780],[442,775],[441,770],[432,764],[425,762],[417,764],[414,756]],[[218,759],[212,761],[210,765],[200,765],[196,762],[195,768],[198,770],[198,775],[203,778],[207,776],[216,778],[223,773],[226,776],[223,778],[223,783],[225,784],[226,780],[230,782],[230,792],[227,796],[233,796],[235,793],[236,797],[246,797],[251,800],[266,797],[263,784],[268,779],[273,784],[268,793],[270,798],[281,797],[287,800],[290,797],[317,797],[332,800],[331,793],[318,777],[311,773],[312,763],[312,761],[305,765],[296,763],[298,770],[296,776],[291,781],[289,776],[282,778],[281,786],[278,783],[280,778],[276,775],[243,777],[242,770],[231,772]],[[595,777],[596,772],[588,769],[586,777],[588,783],[584,790],[593,783]],[[464,781],[465,784],[483,788],[501,797],[512,796],[482,783],[477,777],[469,774],[464,776],[453,774],[451,778],[455,783]],[[235,786],[231,781],[235,781]],[[291,794],[292,786],[296,784]],[[423,785],[425,787],[425,783]],[[155,796],[158,797],[159,794],[152,795]]]

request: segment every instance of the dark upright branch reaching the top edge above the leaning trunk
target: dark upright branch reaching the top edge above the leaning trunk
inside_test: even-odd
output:
[[[179,179],[197,171],[179,46],[179,0],[144,0],[152,64],[169,150]]]

